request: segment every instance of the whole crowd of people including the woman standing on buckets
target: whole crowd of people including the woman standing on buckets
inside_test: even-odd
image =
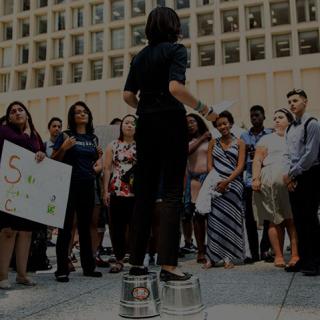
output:
[[[312,183],[320,178],[320,126],[306,113],[306,92],[287,93],[288,109],[274,111],[273,128],[264,127],[264,108],[254,105],[252,127],[237,130],[229,111],[217,114],[185,88],[187,53],[176,43],[180,29],[174,10],[150,13],[149,45],[133,59],[124,88],[124,100],[137,115],[112,122],[119,124],[119,137],[106,150],[83,101],[70,106],[67,130],[61,119],[49,121],[45,143],[23,103],[12,102],[1,119],[0,153],[9,140],[34,152],[37,162],[47,156],[72,166],[55,279],[68,282],[74,270],[75,230],[85,277],[102,277],[96,267],[119,273],[128,259],[131,275],[146,275],[145,257],[157,253],[161,280],[187,280],[191,274],[177,266],[179,255],[190,252],[197,252],[204,269],[265,260],[287,272],[320,274],[320,188]],[[184,105],[198,114],[186,115]],[[207,210],[199,209],[200,194],[209,197]],[[109,261],[99,255],[106,222],[114,254]],[[42,232],[52,244],[52,228],[0,212],[0,230],[0,288],[10,288],[13,253],[16,282],[34,286],[27,275],[32,234]]]

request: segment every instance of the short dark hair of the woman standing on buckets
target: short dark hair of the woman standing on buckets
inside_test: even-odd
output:
[[[148,16],[145,34],[150,45],[160,42],[177,42],[181,23],[177,13],[168,7],[157,7]]]

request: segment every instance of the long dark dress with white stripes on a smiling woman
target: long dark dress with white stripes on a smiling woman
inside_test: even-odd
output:
[[[220,138],[212,152],[213,170],[222,179],[228,178],[238,163],[239,145],[234,138],[230,147],[223,150]],[[213,263],[243,263],[243,184],[241,175],[229,184],[229,190],[211,202],[208,215],[207,255]]]

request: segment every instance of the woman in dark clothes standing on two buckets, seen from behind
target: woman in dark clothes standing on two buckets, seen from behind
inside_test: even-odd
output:
[[[185,88],[187,50],[176,43],[181,32],[176,12],[158,7],[149,14],[145,33],[149,41],[132,60],[124,100],[137,109],[136,204],[130,232],[131,275],[145,275],[142,266],[151,228],[160,177],[163,202],[158,247],[160,279],[187,280],[177,268],[180,242],[183,178],[188,157],[188,129],[183,104],[214,121],[212,108]],[[139,92],[139,99],[137,93]]]

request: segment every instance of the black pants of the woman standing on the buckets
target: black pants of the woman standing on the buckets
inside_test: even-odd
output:
[[[159,204],[158,263],[177,265],[187,137],[184,112],[141,115],[138,119],[136,204],[130,232],[130,263],[133,265],[143,263],[160,177],[163,202]]]

